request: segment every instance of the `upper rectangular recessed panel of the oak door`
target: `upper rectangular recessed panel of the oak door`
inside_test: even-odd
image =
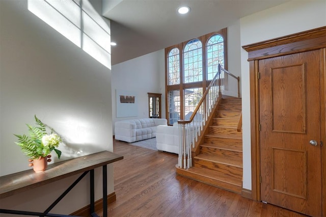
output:
[[[274,132],[306,133],[304,68],[304,64],[271,68],[271,115]]]

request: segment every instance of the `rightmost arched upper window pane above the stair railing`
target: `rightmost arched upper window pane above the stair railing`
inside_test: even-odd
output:
[[[224,67],[224,40],[221,35],[213,35],[207,40],[207,80],[213,79],[218,72],[219,64]]]

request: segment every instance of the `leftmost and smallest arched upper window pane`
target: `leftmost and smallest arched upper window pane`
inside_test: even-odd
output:
[[[179,49],[173,48],[168,55],[169,85],[180,84],[180,55]]]

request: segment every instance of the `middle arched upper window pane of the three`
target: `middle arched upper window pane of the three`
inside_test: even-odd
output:
[[[202,42],[198,39],[189,41],[183,49],[184,83],[203,80]]]

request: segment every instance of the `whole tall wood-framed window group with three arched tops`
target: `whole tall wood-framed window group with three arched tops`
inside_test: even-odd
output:
[[[227,29],[165,49],[167,119],[188,120],[221,64],[227,69]]]

